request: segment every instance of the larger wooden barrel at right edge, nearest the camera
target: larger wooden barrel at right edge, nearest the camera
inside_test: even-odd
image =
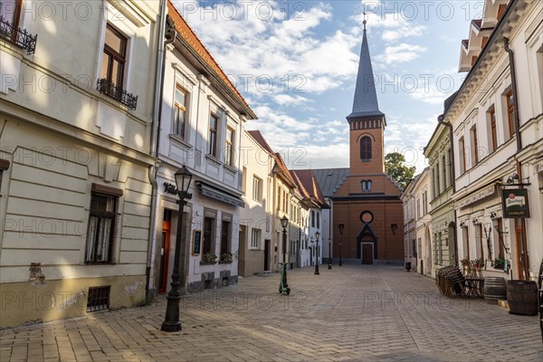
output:
[[[538,283],[535,281],[507,281],[507,302],[511,314],[538,314]]]

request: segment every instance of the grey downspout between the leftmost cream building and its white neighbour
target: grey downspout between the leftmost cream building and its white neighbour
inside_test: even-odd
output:
[[[158,52],[157,52],[157,63],[155,67],[155,90],[153,92],[153,128],[151,131],[151,144],[149,153],[152,157],[157,157],[158,150],[158,130],[160,129],[160,103],[162,100],[162,83],[164,80],[164,63],[166,57],[164,56],[165,42],[164,42],[164,33],[166,28],[166,17],[167,17],[167,0],[164,0],[160,3],[160,13],[158,21],[158,34],[157,34],[157,43],[158,43]],[[145,271],[146,283],[145,283],[145,298],[148,300],[150,298],[150,278],[151,278],[151,265],[153,262],[153,249],[155,246],[155,228],[157,226],[157,165],[151,166],[148,168],[148,180],[151,184],[151,211],[149,213],[150,223],[149,223],[149,233],[148,233],[148,259],[147,266]]]

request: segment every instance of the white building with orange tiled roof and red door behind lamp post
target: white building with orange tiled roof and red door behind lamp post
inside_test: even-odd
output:
[[[174,174],[185,165],[193,179],[183,217],[183,287],[195,292],[237,282],[243,122],[256,116],[171,2],[168,14],[177,34],[166,54],[151,285],[169,291],[178,220]]]

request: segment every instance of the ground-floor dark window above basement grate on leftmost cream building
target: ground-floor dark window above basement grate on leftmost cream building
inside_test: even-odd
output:
[[[85,262],[112,261],[118,197],[92,193]]]

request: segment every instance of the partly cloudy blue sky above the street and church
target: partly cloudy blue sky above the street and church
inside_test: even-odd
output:
[[[421,172],[482,1],[174,0],[292,169],[348,167],[364,12],[385,147]]]

